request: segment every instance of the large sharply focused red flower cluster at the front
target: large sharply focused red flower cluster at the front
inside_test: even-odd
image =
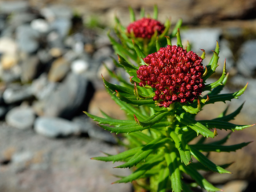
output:
[[[162,101],[160,107],[169,107],[174,102],[193,103],[202,93],[202,58],[193,51],[168,45],[144,58],[148,65],[137,70],[140,86],[156,88],[153,100]]]

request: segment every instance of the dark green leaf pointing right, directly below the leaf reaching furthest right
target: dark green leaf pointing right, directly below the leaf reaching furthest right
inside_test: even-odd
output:
[[[251,142],[247,143],[240,143],[235,145],[215,145],[215,144],[196,144],[196,145],[189,145],[190,147],[194,147],[199,151],[216,151],[216,152],[230,152],[230,151],[236,151],[238,149],[241,149],[248,145]]]

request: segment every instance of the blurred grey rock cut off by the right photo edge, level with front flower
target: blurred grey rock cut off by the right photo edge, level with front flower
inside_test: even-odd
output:
[[[242,44],[237,61],[238,72],[245,77],[253,77],[256,70],[256,40],[249,40]]]

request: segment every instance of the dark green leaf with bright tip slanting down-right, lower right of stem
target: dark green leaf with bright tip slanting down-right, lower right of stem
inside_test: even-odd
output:
[[[227,171],[227,170],[223,169],[222,167],[215,165],[206,156],[204,156],[200,151],[198,151],[197,149],[195,149],[191,145],[190,145],[190,151],[191,151],[191,154],[194,156],[195,159],[197,159],[205,167],[208,167],[209,169],[211,169],[213,172],[217,172],[217,173],[221,173],[221,174],[222,173],[230,173],[231,174],[230,171]]]

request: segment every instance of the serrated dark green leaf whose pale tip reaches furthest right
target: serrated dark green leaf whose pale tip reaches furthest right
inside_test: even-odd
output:
[[[236,125],[230,122],[226,122],[226,121],[218,121],[218,120],[201,120],[198,121],[200,123],[202,123],[202,125],[206,126],[207,128],[211,129],[211,128],[216,128],[216,129],[225,129],[225,130],[242,130],[244,128],[248,128],[251,127],[253,125]]]

